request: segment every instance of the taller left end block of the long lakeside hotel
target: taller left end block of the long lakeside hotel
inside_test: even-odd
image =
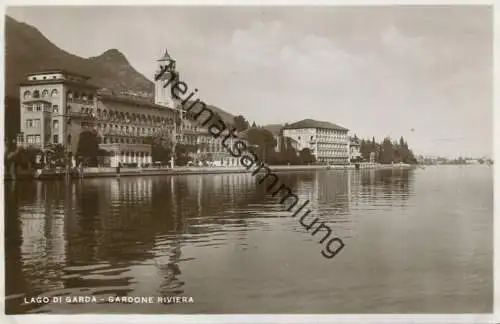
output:
[[[28,74],[20,84],[17,144],[41,150],[60,144],[74,156],[79,134],[95,128],[97,87],[88,80],[64,70]]]

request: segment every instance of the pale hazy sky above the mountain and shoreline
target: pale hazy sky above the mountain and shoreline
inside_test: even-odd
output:
[[[418,154],[492,154],[488,7],[38,7],[7,14],[152,79],[165,48],[201,100],[257,124],[330,121]],[[412,131],[413,129],[413,131]]]

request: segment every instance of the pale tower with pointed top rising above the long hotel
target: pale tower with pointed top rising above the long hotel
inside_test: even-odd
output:
[[[175,60],[165,49],[165,54],[156,61],[155,73],[155,104],[175,108],[175,98],[172,96],[172,84],[179,79],[175,71]]]

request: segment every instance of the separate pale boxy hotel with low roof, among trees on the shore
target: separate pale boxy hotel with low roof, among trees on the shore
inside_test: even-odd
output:
[[[333,128],[285,128],[283,135],[294,139],[298,149],[308,148],[321,164],[349,163],[347,130]]]

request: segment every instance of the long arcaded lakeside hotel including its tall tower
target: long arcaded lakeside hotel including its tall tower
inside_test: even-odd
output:
[[[154,136],[196,145],[193,155],[210,156],[215,165],[238,166],[239,159],[228,154],[221,140],[196,121],[187,120],[179,100],[173,99],[168,78],[178,74],[167,51],[157,64],[157,74],[165,66],[170,68],[155,81],[154,102],[105,93],[91,85],[89,77],[68,71],[27,75],[20,86],[18,145],[43,150],[49,144],[62,144],[74,158],[80,133],[94,130],[100,137],[99,148],[111,153],[111,166],[154,162],[147,144],[147,138]]]

